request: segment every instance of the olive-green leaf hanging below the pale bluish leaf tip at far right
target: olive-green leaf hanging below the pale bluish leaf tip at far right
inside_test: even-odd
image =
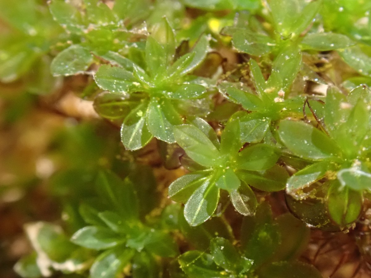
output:
[[[362,193],[333,181],[327,193],[328,211],[341,227],[356,221],[362,210]]]

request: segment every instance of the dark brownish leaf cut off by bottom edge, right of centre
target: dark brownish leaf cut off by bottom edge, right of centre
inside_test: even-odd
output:
[[[313,265],[303,262],[274,262],[259,270],[261,278],[322,278]]]

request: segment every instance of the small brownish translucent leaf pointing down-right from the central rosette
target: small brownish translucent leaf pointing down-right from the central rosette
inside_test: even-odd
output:
[[[242,215],[251,216],[255,213],[257,199],[250,186],[242,183],[238,189],[229,193],[232,205]]]

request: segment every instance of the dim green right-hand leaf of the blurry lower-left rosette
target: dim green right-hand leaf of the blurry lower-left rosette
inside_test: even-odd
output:
[[[151,231],[147,235],[145,248],[160,257],[175,257],[179,254],[178,244],[167,232]]]

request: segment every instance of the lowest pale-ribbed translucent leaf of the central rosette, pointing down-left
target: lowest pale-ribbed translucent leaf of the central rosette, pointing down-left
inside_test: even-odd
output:
[[[191,226],[205,222],[213,215],[219,201],[219,188],[210,179],[193,192],[184,206],[184,217]]]

